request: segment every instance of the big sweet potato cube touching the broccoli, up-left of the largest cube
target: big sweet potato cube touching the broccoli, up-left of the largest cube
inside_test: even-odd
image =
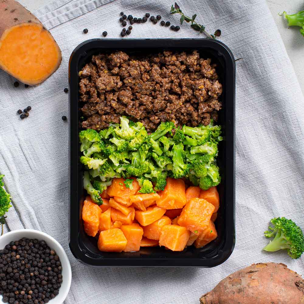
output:
[[[156,204],[164,209],[183,208],[187,202],[185,182],[182,179],[168,177],[164,191],[158,193],[161,197],[156,201]]]

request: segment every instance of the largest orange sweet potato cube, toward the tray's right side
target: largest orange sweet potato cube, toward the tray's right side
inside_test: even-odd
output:
[[[214,206],[205,199],[190,199],[178,218],[178,225],[191,232],[201,233],[209,225]]]

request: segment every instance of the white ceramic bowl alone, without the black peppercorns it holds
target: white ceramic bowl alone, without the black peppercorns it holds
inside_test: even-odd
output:
[[[46,241],[47,245],[51,249],[54,249],[56,254],[59,256],[62,265],[62,284],[59,289],[59,294],[54,299],[51,299],[48,303],[62,304],[70,290],[72,280],[71,264],[67,254],[62,246],[53,237],[50,237],[44,232],[33,229],[20,229],[5,233],[2,237],[0,237],[0,249],[4,249],[5,245],[9,244],[9,242],[20,240],[22,237]],[[4,304],[2,301],[2,295],[0,295],[0,304]]]

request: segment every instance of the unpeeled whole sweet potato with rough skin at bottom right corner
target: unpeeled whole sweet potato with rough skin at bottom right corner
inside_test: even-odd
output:
[[[304,280],[280,263],[258,263],[224,278],[201,304],[302,304]]]

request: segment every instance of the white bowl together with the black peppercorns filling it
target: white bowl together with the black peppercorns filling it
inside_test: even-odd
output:
[[[0,237],[0,304],[61,304],[71,278],[67,254],[53,237],[32,229]]]

